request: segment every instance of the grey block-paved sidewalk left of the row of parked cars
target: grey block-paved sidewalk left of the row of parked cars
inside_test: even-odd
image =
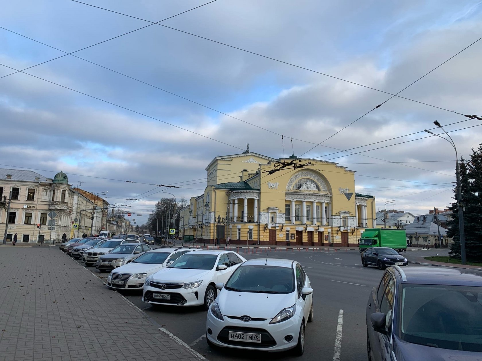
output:
[[[0,361],[202,358],[58,247],[0,247],[0,272]]]

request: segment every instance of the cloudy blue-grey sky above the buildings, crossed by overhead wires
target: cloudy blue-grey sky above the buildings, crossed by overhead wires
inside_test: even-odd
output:
[[[86,2],[159,22],[208,1]],[[429,105],[383,103],[391,97],[384,92],[482,37],[480,1],[216,0],[161,22],[174,29],[69,0],[1,6],[0,167],[47,177],[63,170],[74,186],[108,191],[109,203],[133,213],[147,214],[169,196],[163,191],[201,193],[206,165],[249,143],[275,158],[294,151],[338,162],[357,171],[357,190],[375,195],[377,208],[395,199],[396,209],[422,214],[447,206],[455,182],[453,148],[423,130],[434,120],[447,125],[464,156],[482,141],[480,120],[451,112],[482,113],[482,40],[399,94]],[[74,54],[82,59],[9,75],[86,47]],[[340,152],[351,148],[363,153]]]

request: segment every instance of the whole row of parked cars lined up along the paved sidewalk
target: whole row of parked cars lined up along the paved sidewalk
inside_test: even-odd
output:
[[[210,346],[304,352],[305,327],[313,321],[313,289],[296,261],[246,260],[229,250],[153,249],[132,239],[73,242],[67,244],[67,254],[70,248],[70,255],[86,266],[111,270],[109,288],[142,289],[142,300],[153,307],[208,310]]]

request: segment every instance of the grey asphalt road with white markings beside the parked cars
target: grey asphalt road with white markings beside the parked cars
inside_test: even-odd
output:
[[[249,258],[264,258],[267,253],[244,254]],[[409,260],[418,257],[445,255],[446,250],[407,251]],[[269,252],[269,258],[288,258],[301,263],[313,287],[314,322],[306,328],[305,354],[307,361],[366,360],[365,308],[371,289],[380,281],[382,271],[361,265],[358,250],[339,252],[286,251]],[[409,266],[410,267],[410,266]],[[107,273],[89,268],[102,279]],[[112,291],[118,292],[118,291]],[[200,308],[166,306],[153,309],[141,301],[142,292],[122,291],[121,294],[134,303],[163,327],[186,342],[211,361],[295,360],[289,352],[268,355],[263,351],[240,351],[209,348],[205,339],[206,312]],[[341,323],[341,344],[335,342],[336,329]],[[337,352],[340,357],[336,358]]]

